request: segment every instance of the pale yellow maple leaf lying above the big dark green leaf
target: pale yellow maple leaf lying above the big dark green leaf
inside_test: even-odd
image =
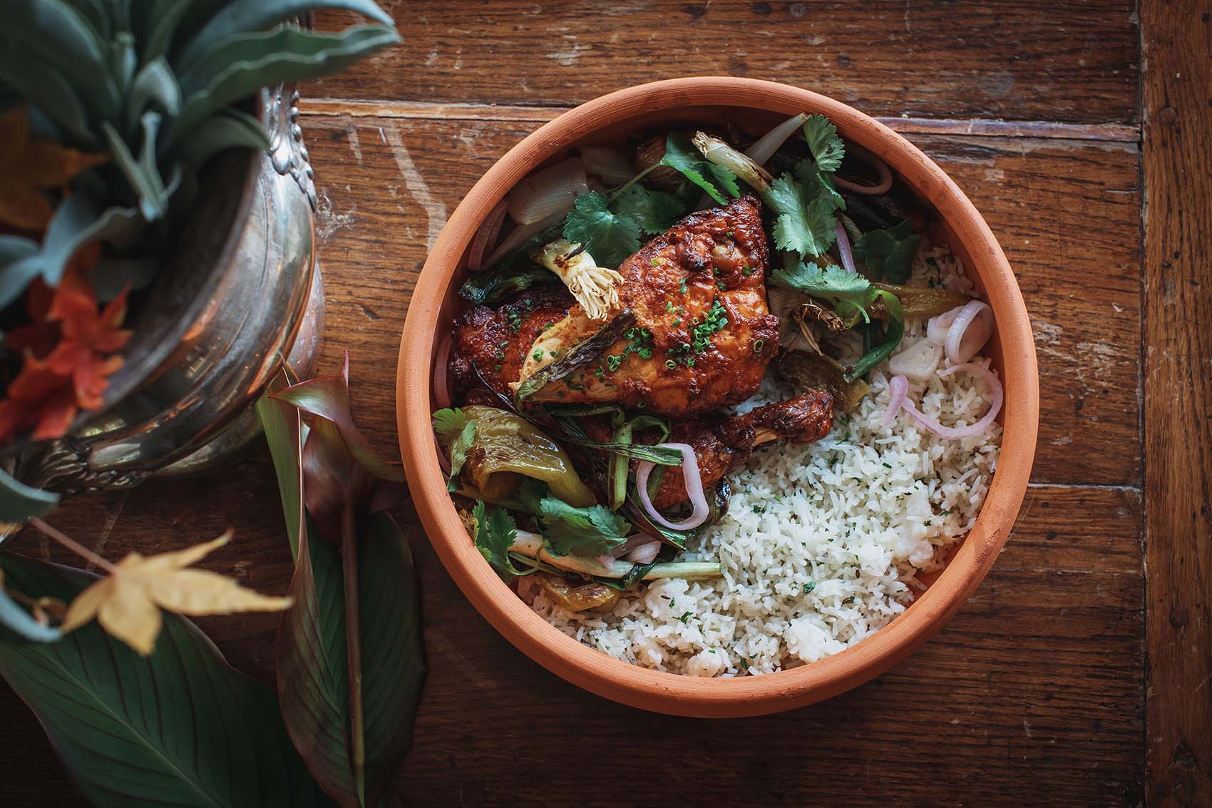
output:
[[[218,539],[171,553],[130,553],[114,571],[76,596],[63,619],[72,631],[93,618],[112,636],[147,656],[155,647],[160,609],[189,615],[234,611],[280,611],[292,598],[268,597],[240,586],[235,579],[201,569],[185,569],[231,539]]]

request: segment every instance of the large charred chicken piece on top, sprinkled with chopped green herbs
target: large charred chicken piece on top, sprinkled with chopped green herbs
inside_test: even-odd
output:
[[[767,263],[755,198],[682,218],[619,267],[619,303],[611,315],[630,312],[634,328],[604,346],[599,362],[548,383],[533,400],[642,404],[674,417],[745,400],[778,348],[778,318],[766,305]],[[602,325],[573,306],[526,352],[520,380]]]

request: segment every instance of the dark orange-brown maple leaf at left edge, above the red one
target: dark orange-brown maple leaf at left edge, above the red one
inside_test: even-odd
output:
[[[0,115],[0,223],[41,231],[51,220],[47,188],[67,184],[85,169],[105,161],[58,143],[30,142],[24,107]]]

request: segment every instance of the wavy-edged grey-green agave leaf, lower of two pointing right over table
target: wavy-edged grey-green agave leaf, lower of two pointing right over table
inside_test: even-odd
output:
[[[216,110],[247,98],[261,87],[333,73],[400,41],[395,29],[387,25],[354,25],[339,34],[302,34],[282,28],[271,34],[282,35],[284,32],[313,38],[322,46],[307,53],[270,50],[257,58],[224,66],[205,80],[202,89],[187,91],[175,129],[188,132]],[[204,78],[199,74],[191,84],[199,86]]]

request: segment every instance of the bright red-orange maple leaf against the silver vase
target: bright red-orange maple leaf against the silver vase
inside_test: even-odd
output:
[[[95,261],[97,251],[90,252]],[[22,351],[24,360],[0,400],[0,442],[27,429],[38,440],[61,437],[78,411],[101,409],[108,377],[122,366],[115,352],[131,336],[119,328],[126,291],[98,311],[92,286],[73,266],[48,292],[30,288],[27,306],[34,323],[8,335],[10,347]]]

